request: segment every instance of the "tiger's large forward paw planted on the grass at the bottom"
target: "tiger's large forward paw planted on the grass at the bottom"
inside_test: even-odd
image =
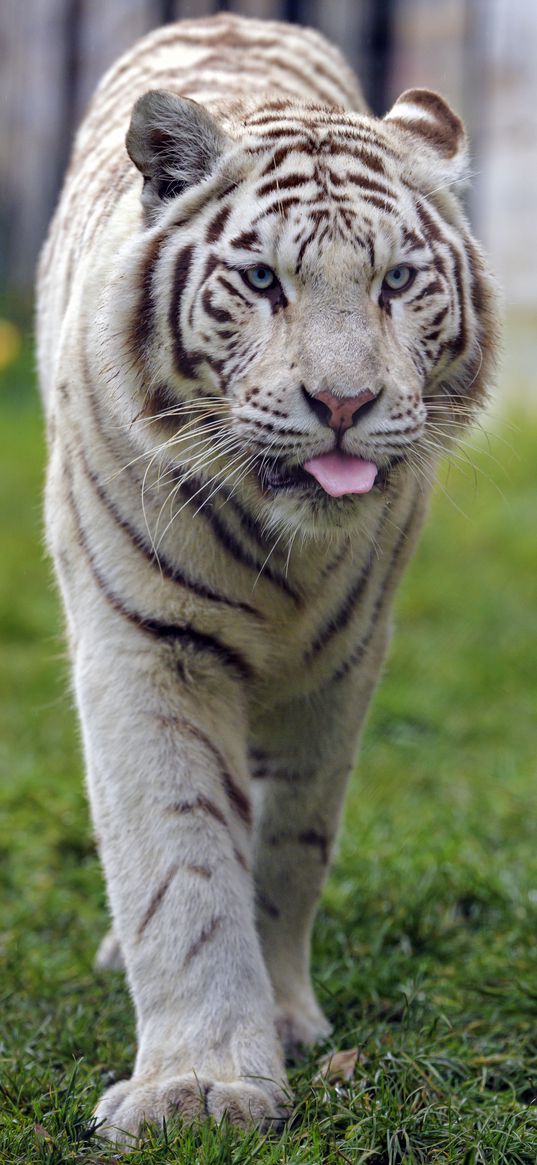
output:
[[[119,1145],[132,1145],[144,1124],[162,1127],[174,1118],[192,1124],[212,1117],[241,1128],[280,1129],[289,1116],[289,1095],[270,1080],[207,1080],[133,1076],[113,1085],[96,1109],[97,1132]]]

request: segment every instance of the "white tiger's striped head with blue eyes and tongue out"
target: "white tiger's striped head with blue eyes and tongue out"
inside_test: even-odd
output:
[[[402,475],[428,476],[483,397],[495,336],[445,101],[411,90],[382,121],[289,100],[217,119],[153,91],[127,149],[143,439],[304,534],[351,529]]]

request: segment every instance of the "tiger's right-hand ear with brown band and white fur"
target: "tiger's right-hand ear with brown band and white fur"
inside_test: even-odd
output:
[[[464,183],[467,178],[468,146],[465,127],[439,93],[408,89],[386,114],[384,121],[407,139],[409,177],[416,185],[431,188]],[[408,139],[415,151],[408,154]]]

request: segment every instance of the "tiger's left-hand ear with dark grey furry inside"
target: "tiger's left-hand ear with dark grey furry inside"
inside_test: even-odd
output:
[[[163,203],[209,177],[229,141],[197,101],[154,89],[133,108],[126,146],[143,175],[142,205],[151,221]]]

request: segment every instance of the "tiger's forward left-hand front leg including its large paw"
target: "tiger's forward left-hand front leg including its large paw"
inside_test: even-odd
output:
[[[100,1134],[126,1142],[171,1116],[280,1121],[285,1076],[254,925],[240,684],[214,659],[204,675],[188,651],[182,679],[176,648],[106,630],[98,643],[82,637],[76,689],[139,1046],[132,1079],[97,1107]]]

